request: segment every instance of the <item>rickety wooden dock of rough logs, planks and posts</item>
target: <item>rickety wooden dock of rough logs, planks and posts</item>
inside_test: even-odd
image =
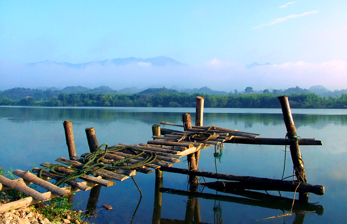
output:
[[[201,103],[202,101],[202,103]],[[281,101],[281,100],[280,100]],[[289,109],[290,112],[290,109]],[[285,112],[284,112],[285,114]],[[289,113],[290,114],[290,113]],[[291,117],[291,114],[288,115]],[[203,126],[203,98],[197,97],[197,113],[196,113],[196,121],[195,126],[191,125],[191,119],[189,114],[183,114],[183,124],[172,124],[169,122],[161,122],[162,125],[169,125],[173,127],[178,127],[181,130],[173,130],[161,128],[160,125],[153,125],[152,133],[153,140],[148,140],[147,143],[140,144],[127,144],[127,143],[118,143],[117,145],[110,146],[109,149],[113,148],[121,148],[119,151],[109,152],[108,149],[100,149],[99,144],[96,138],[94,128],[87,128],[86,134],[88,139],[88,145],[90,152],[99,151],[98,157],[95,159],[100,159],[98,162],[102,162],[104,165],[112,165],[115,161],[124,160],[125,162],[122,165],[136,165],[143,161],[146,161],[150,156],[155,155],[156,158],[151,163],[148,163],[144,166],[136,167],[134,169],[121,169],[121,170],[99,170],[98,166],[93,167],[93,163],[88,163],[84,158],[90,153],[83,153],[79,157],[76,155],[74,150],[74,142],[73,142],[73,131],[72,131],[72,122],[65,121],[64,130],[66,136],[66,143],[69,151],[69,158],[59,157],[56,161],[60,164],[65,165],[65,167],[57,167],[55,171],[69,174],[75,172],[77,169],[85,169],[90,168],[90,170],[95,171],[93,175],[83,174],[78,177],[78,181],[76,179],[68,180],[67,186],[59,187],[51,183],[49,181],[51,179],[59,180],[63,176],[58,175],[52,172],[49,172],[45,167],[52,167],[52,164],[44,162],[41,164],[43,168],[34,168],[32,170],[33,173],[39,174],[41,171],[42,179],[38,177],[38,175],[34,175],[29,171],[21,171],[15,170],[13,174],[20,177],[20,179],[10,180],[5,177],[0,176],[0,191],[6,191],[8,189],[17,189],[28,195],[27,198],[20,199],[18,201],[10,202],[7,204],[0,205],[0,212],[9,211],[12,209],[17,209],[21,207],[26,207],[32,204],[36,204],[38,202],[47,201],[56,197],[63,197],[67,195],[71,195],[79,190],[90,190],[94,189],[93,187],[105,186],[109,187],[115,184],[114,181],[123,181],[125,179],[129,179],[130,177],[136,175],[136,173],[144,173],[150,174],[153,171],[156,171],[157,178],[162,178],[162,172],[174,172],[174,173],[182,173],[189,175],[189,182],[191,185],[198,184],[198,180],[196,176],[210,177],[210,178],[218,178],[225,180],[238,181],[238,183],[242,183],[239,188],[243,189],[251,189],[249,184],[254,185],[259,183],[264,183],[267,180],[265,179],[257,179],[252,177],[239,177],[232,175],[224,175],[223,177],[218,176],[214,177],[212,173],[206,174],[207,172],[199,172],[197,171],[198,161],[199,161],[199,152],[202,149],[215,146],[221,147],[223,143],[239,143],[239,144],[274,144],[274,145],[290,145],[291,155],[293,159],[294,167],[297,171],[297,179],[298,182],[288,181],[288,184],[291,184],[292,187],[296,187],[297,185],[301,186],[297,192],[307,193],[314,192],[316,194],[324,194],[324,187],[319,185],[310,185],[307,183],[306,179],[302,179],[302,175],[304,174],[303,163],[301,159],[301,163],[294,163],[297,158],[301,158],[300,151],[298,149],[298,145],[321,145],[322,142],[315,139],[304,139],[301,138],[299,140],[292,140],[295,136],[291,136],[292,139],[283,138],[283,139],[273,139],[273,138],[257,138],[259,134],[245,133],[237,130],[225,129],[215,126]],[[286,119],[285,119],[286,120]],[[293,131],[293,130],[291,130]],[[295,131],[295,130],[294,130]],[[296,138],[295,138],[296,139]],[[292,146],[292,144],[295,144]],[[135,156],[136,152],[143,152],[139,156]],[[296,153],[296,154],[295,154]],[[171,167],[180,161],[180,159],[184,156],[187,156],[188,160],[188,169],[172,169]],[[296,156],[296,157],[295,157]],[[51,168],[51,171],[53,169]],[[207,175],[207,176],[206,176]],[[210,176],[208,176],[210,175]],[[216,175],[216,174],[215,174]],[[239,177],[238,179],[235,177]],[[271,181],[269,179],[269,181]],[[278,182],[286,183],[284,180],[278,180]],[[290,182],[290,183],[289,183]],[[300,182],[300,183],[299,183]],[[298,184],[299,183],[299,184]],[[30,187],[28,184],[36,184],[46,190],[45,193],[40,193]],[[248,186],[245,186],[248,184]],[[271,182],[271,185],[274,186],[274,182]],[[263,185],[262,185],[263,186]],[[234,186],[235,187],[235,184]],[[278,187],[275,190],[285,190],[285,187]],[[313,187],[313,188],[312,188]],[[263,186],[262,189],[266,189],[266,185]],[[313,190],[312,190],[313,189]],[[318,189],[318,190],[317,190]],[[296,191],[296,189],[295,189]]]

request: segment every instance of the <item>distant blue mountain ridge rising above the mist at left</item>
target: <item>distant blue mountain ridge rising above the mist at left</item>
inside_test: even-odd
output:
[[[80,64],[72,64],[68,62],[56,62],[56,61],[41,61],[36,63],[29,63],[29,66],[36,66],[36,65],[58,65],[58,66],[66,66],[70,68],[75,69],[81,69],[85,68],[89,65],[116,65],[116,66],[122,66],[122,65],[128,65],[128,64],[138,64],[138,65],[144,65],[144,66],[173,66],[173,65],[186,65],[181,62],[178,62],[174,60],[171,57],[153,57],[153,58],[135,58],[135,57],[127,57],[127,58],[115,58],[112,60],[102,60],[102,61],[91,61],[86,63],[80,63]]]

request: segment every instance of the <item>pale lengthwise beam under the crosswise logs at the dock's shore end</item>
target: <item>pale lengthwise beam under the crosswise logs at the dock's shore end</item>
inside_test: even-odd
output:
[[[86,184],[84,182],[82,182],[82,183]],[[75,192],[80,190],[80,189],[77,189],[77,188],[71,188],[70,186],[65,186],[65,187],[62,187],[61,189],[68,191],[69,194],[73,194],[73,193],[75,193]],[[47,198],[48,200],[59,197],[59,195],[54,194],[51,191],[47,191],[45,193],[42,193],[42,195],[45,198]],[[10,211],[10,210],[13,210],[13,209],[22,208],[22,207],[28,207],[30,205],[37,204],[39,202],[41,202],[41,201],[37,200],[37,199],[35,199],[33,197],[26,197],[26,198],[20,199],[18,201],[13,201],[13,202],[9,202],[9,203],[1,205],[0,206],[0,213],[1,212],[6,212],[6,211]]]

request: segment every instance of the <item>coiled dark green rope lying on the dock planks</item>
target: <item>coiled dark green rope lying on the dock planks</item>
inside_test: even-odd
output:
[[[105,150],[102,150],[101,148],[105,146]],[[111,152],[116,152],[116,151],[121,151],[121,150],[125,150],[128,149],[130,151],[132,151],[133,153],[135,153],[134,156],[131,156],[129,158],[123,158],[117,161],[114,161],[110,164],[105,165],[104,163],[100,162],[101,159],[103,159],[107,153],[111,153]],[[144,154],[145,151],[141,150],[140,152],[132,147],[127,147],[127,146],[115,146],[113,148],[108,148],[108,144],[104,143],[102,145],[100,145],[97,150],[95,152],[91,152],[89,154],[87,154],[84,159],[83,162],[85,163],[83,165],[83,167],[81,169],[77,169],[77,168],[71,168],[71,166],[64,166],[64,165],[60,165],[60,164],[54,164],[52,166],[47,166],[41,169],[39,177],[42,178],[42,172],[46,169],[50,169],[51,173],[57,174],[59,176],[62,176],[61,179],[59,179],[55,185],[59,186],[62,183],[72,180],[72,179],[77,179],[82,177],[83,175],[88,175],[88,174],[95,174],[101,170],[109,170],[109,171],[114,171],[114,170],[132,170],[138,167],[142,167],[142,166],[146,166],[150,163],[153,163],[156,159],[157,159],[157,155],[155,153],[149,152],[149,156],[147,156],[143,161],[137,162],[135,164],[126,164],[127,161],[134,159],[136,157],[141,156],[142,154]],[[94,160],[99,156],[100,156],[92,165],[89,166],[89,164],[91,164],[92,162],[94,162]],[[72,173],[66,174],[66,173],[61,173],[55,170],[55,168],[57,167],[63,167],[66,169],[72,169],[74,170]],[[97,169],[93,169],[96,168]],[[92,170],[93,169],[93,170]]]

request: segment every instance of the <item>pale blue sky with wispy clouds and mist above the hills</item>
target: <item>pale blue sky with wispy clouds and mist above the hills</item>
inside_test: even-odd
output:
[[[187,66],[27,65],[158,56]],[[346,0],[0,0],[0,90],[340,90],[346,81]]]

